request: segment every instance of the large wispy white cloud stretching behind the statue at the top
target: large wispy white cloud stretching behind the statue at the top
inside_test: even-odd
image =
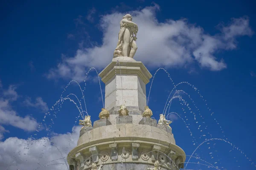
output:
[[[217,57],[220,50],[232,50],[237,46],[236,38],[251,36],[247,17],[233,18],[228,24],[219,24],[220,34],[209,35],[204,29],[187,20],[166,20],[160,23],[155,15],[159,6],[131,11],[133,21],[139,26],[138,50],[134,58],[145,65],[155,67],[183,67],[198,62],[201,68],[219,71],[227,67]],[[102,45],[81,48],[74,57],[63,57],[57,68],[49,71],[48,78],[65,77],[82,81],[86,68],[102,69],[113,58],[119,32],[119,21],[124,14],[114,12],[102,16],[100,28],[103,31]]]

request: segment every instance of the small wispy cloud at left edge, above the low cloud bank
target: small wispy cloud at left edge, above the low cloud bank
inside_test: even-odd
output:
[[[18,98],[15,85],[9,85],[7,90],[0,88],[0,138],[6,130],[1,125],[12,125],[27,131],[34,131],[38,126],[35,119],[30,116],[21,117],[12,109],[11,103]],[[29,125],[29,126],[28,126]]]

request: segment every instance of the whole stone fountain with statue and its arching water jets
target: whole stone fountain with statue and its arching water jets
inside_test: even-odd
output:
[[[54,124],[53,119],[54,117],[56,118],[56,114],[60,111],[63,103],[66,101],[71,102],[79,111],[74,127],[78,124],[82,125],[82,127],[77,146],[70,150],[67,157],[61,153],[58,146],[48,141],[48,138],[45,139],[45,143],[50,143],[59,151],[61,158],[43,164],[38,160],[38,167],[34,170],[60,164],[70,170],[179,170],[181,168],[188,170],[187,167],[189,166],[190,168],[193,164],[210,169],[225,170],[225,167],[221,166],[221,159],[217,158],[215,160],[216,153],[214,152],[216,150],[213,148],[216,142],[230,145],[231,150],[229,152],[238,150],[245,156],[245,159],[250,161],[253,167],[256,167],[254,162],[241,149],[228,141],[224,135],[224,130],[219,125],[217,119],[215,119],[214,113],[207,106],[206,100],[194,85],[189,82],[180,82],[175,85],[170,74],[164,68],[159,68],[152,78],[152,75],[143,63],[133,59],[137,50],[137,31],[138,27],[132,22],[131,15],[125,15],[121,20],[118,44],[114,51],[112,62],[100,74],[98,74],[95,68],[90,68],[86,74],[87,76],[90,71],[95,70],[98,77],[101,77],[102,82],[105,83],[105,104],[103,103],[102,95],[102,107],[100,107],[102,110],[100,111],[100,108],[95,109],[99,113],[99,120],[91,122],[84,99],[84,90],[75,80],[70,81],[66,88],[64,88],[60,99],[52,106],[49,112],[45,113],[43,122],[46,121],[47,116],[52,116],[52,118],[49,118],[51,122],[48,126],[49,133]],[[153,109],[153,111],[150,109],[150,105],[148,106],[149,100],[146,100],[146,84],[152,78],[148,93],[149,99],[154,78],[160,70],[166,72],[174,88],[169,93],[163,112],[161,112],[162,114],[160,114],[160,119],[157,122],[153,117],[156,114],[153,113]],[[78,85],[82,100],[72,93],[67,96],[64,95],[64,92],[71,83]],[[219,126],[221,134],[224,135],[225,139],[214,138],[212,133],[206,131],[209,124],[206,124],[205,118],[195,105],[194,100],[185,91],[177,90],[177,87],[182,84],[192,88],[200,96],[207,106],[210,113],[209,116],[213,117],[213,121]],[[101,84],[99,83],[99,85],[101,90]],[[188,97],[188,101],[186,101],[185,96]],[[178,99],[180,102],[182,114],[170,111],[170,106],[175,99]],[[83,104],[85,110],[83,110]],[[196,115],[196,113],[198,114]],[[176,145],[172,132],[178,133],[178,130],[177,128],[172,130],[172,121],[168,120],[172,114],[180,118],[189,131],[192,146],[195,148],[195,150],[192,150],[191,155],[185,155],[185,152]],[[189,122],[189,120],[192,120],[192,122]],[[191,123],[195,125],[191,126]],[[31,136],[34,140],[31,140],[31,143],[24,146],[24,149],[31,148],[37,142],[35,137],[42,125],[41,123],[34,136]],[[200,134],[199,138],[196,138],[192,133],[193,127]],[[189,137],[187,138],[188,140]],[[71,139],[72,135],[70,136]],[[198,139],[203,141],[199,142]],[[69,143],[70,140],[68,141]],[[198,154],[202,147],[209,149],[208,156],[211,161]],[[40,158],[43,157],[43,152],[42,150]],[[14,154],[14,159],[19,159],[21,154],[20,151],[17,151]],[[62,160],[64,161],[61,163],[60,160],[61,162]],[[14,161],[8,165],[12,167],[13,164],[15,164]]]

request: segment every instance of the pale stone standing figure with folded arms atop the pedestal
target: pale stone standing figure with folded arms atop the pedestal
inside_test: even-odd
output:
[[[131,58],[134,57],[134,54],[137,51],[137,32],[137,24],[132,22],[130,14],[126,14],[120,21],[120,31],[118,34],[117,46],[114,51],[114,58],[123,56]]]

